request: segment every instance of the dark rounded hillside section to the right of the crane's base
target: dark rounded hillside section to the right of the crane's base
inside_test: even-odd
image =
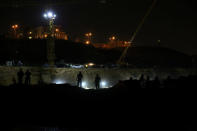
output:
[[[130,48],[126,60],[138,67],[188,67],[192,61],[189,55],[163,47]]]

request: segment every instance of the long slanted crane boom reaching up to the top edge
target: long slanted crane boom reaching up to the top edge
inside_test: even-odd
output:
[[[128,49],[131,47],[131,44],[135,40],[137,34],[139,33],[139,31],[142,28],[142,26],[144,25],[146,19],[148,18],[148,16],[152,12],[152,10],[153,10],[153,8],[154,8],[154,6],[155,6],[156,3],[157,3],[157,0],[153,0],[152,5],[150,6],[150,8],[148,9],[148,11],[146,12],[144,18],[142,19],[142,21],[138,25],[138,27],[137,27],[136,31],[134,32],[131,40],[129,41],[129,45],[124,49],[123,53],[121,54],[120,58],[118,59],[117,64],[119,64],[119,65],[125,65],[124,59],[125,59],[125,57],[127,55]]]

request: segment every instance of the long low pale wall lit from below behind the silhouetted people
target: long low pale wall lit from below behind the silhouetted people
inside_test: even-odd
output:
[[[19,67],[0,67],[0,85],[10,85],[13,77],[16,78],[16,74]],[[94,88],[94,78],[96,74],[99,74],[102,79],[102,86],[110,87],[114,86],[119,80],[128,80],[131,76],[134,79],[138,79],[141,74],[149,75],[150,78],[159,76],[161,79],[167,78],[170,75],[172,78],[178,78],[179,76],[188,76],[194,71],[192,69],[72,69],[72,68],[39,68],[39,67],[23,67],[24,71],[29,69],[32,72],[32,84],[37,84],[40,80],[40,74],[42,74],[43,81],[45,83],[70,83],[76,85],[76,76],[79,71],[84,76],[84,87]]]

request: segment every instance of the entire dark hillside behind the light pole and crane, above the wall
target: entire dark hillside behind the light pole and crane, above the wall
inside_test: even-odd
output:
[[[0,62],[22,60],[26,65],[46,63],[46,40],[1,40]],[[98,64],[116,63],[123,49],[96,49],[82,43],[57,40],[56,60],[66,63]],[[135,47],[130,48],[126,62],[134,67],[188,67],[191,57],[168,48]]]

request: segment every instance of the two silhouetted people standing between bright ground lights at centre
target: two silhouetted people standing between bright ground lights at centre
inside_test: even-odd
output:
[[[83,74],[81,72],[79,72],[79,74],[77,75],[77,86],[78,87],[82,87],[82,80],[83,80]],[[101,77],[98,74],[96,74],[94,83],[95,83],[95,88],[99,89],[100,83],[101,83]]]

